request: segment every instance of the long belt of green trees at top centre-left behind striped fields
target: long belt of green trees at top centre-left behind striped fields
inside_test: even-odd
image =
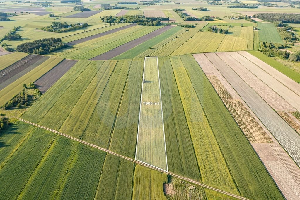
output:
[[[104,16],[101,17],[102,22],[106,23],[137,23],[138,25],[158,26],[160,20],[169,20],[169,17],[145,17],[144,15],[124,15],[120,17]]]

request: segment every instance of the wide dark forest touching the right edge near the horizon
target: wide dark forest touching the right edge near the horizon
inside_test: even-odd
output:
[[[253,17],[256,17],[256,18],[259,18],[261,20],[265,20],[268,22],[281,21],[284,24],[300,23],[300,14],[294,14],[294,13],[259,13],[259,14],[253,15]]]

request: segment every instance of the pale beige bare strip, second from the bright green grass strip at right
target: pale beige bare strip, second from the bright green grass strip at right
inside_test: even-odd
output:
[[[293,108],[300,111],[300,96],[295,94],[292,90],[290,90],[287,86],[283,83],[275,79],[273,76],[268,74],[266,71],[258,67],[257,65],[253,64],[248,59],[244,59],[243,56],[236,52],[227,53],[232,56],[236,61],[240,62],[244,68],[247,68],[250,73],[255,75],[255,77],[259,78],[262,82],[264,82],[267,86],[274,90],[278,95],[280,95],[286,102],[289,103]],[[257,84],[257,83],[256,83]],[[300,89],[300,85],[298,84],[298,88]],[[275,99],[274,99],[275,100]],[[274,101],[273,100],[273,101]],[[278,100],[277,100],[278,101]],[[268,102],[268,101],[267,101]],[[277,110],[276,108],[274,108]],[[290,109],[282,107],[283,110],[281,111],[289,111]],[[291,109],[293,111],[294,109]]]

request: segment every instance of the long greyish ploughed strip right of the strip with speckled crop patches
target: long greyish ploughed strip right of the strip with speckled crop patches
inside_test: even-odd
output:
[[[205,53],[259,120],[300,166],[300,136],[215,53]],[[199,63],[200,66],[202,63]],[[285,134],[282,134],[285,133]]]

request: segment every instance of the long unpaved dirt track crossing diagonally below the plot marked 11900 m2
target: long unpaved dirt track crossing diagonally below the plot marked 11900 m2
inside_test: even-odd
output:
[[[140,162],[140,161],[138,161],[138,160],[134,160],[134,159],[128,158],[128,157],[126,157],[126,156],[122,156],[122,155],[117,154],[117,153],[114,153],[114,152],[112,152],[112,151],[110,151],[110,150],[107,150],[107,149],[98,147],[98,146],[96,146],[96,145],[94,145],[94,144],[90,144],[90,143],[88,143],[88,142],[79,140],[79,139],[77,139],[77,138],[73,138],[73,137],[71,137],[71,136],[69,136],[69,135],[65,135],[65,134],[63,134],[63,133],[61,133],[61,132],[58,132],[58,131],[55,131],[55,130],[52,130],[52,129],[48,129],[48,128],[44,127],[44,126],[40,126],[40,125],[38,125],[38,124],[29,122],[29,121],[27,121],[27,120],[23,120],[23,119],[21,119],[21,118],[19,118],[19,117],[15,117],[15,116],[12,116],[12,115],[9,115],[9,116],[10,116],[10,117],[13,117],[13,118],[15,118],[15,119],[17,119],[17,120],[20,120],[20,121],[22,121],[22,122],[29,123],[29,124],[31,124],[31,125],[33,125],[33,126],[37,126],[37,127],[39,127],[39,128],[42,128],[42,129],[51,131],[51,132],[56,133],[56,134],[58,134],[58,135],[62,135],[62,136],[64,136],[64,137],[70,138],[70,139],[75,140],[75,141],[77,141],[77,142],[80,142],[80,143],[86,144],[86,145],[88,145],[88,146],[94,147],[94,148],[96,148],[96,149],[100,149],[100,150],[102,150],[102,151],[105,151],[105,152],[107,152],[107,153],[113,154],[113,155],[115,155],[115,156],[119,156],[119,157],[121,157],[121,158],[123,158],[123,159],[126,159],[126,160],[129,160],[129,161],[131,161],[131,162],[135,162],[135,163],[137,163],[137,164],[139,164],[139,165],[143,165],[143,166],[148,167],[148,168],[151,168],[151,169],[153,169],[153,170],[160,171],[161,173],[169,174],[169,175],[171,175],[171,176],[173,176],[173,177],[180,178],[180,179],[182,179],[182,180],[185,180],[185,181],[194,183],[194,184],[196,184],[196,185],[199,185],[199,186],[202,186],[202,187],[205,187],[205,188],[208,188],[208,189],[214,190],[214,191],[216,191],[216,192],[220,192],[220,193],[223,193],[223,194],[226,194],[226,195],[229,195],[229,196],[238,198],[238,199],[248,200],[247,198],[244,198],[244,197],[241,197],[241,196],[238,196],[238,195],[235,195],[235,194],[231,194],[231,193],[229,193],[229,192],[225,192],[225,191],[223,191],[223,190],[220,190],[220,189],[217,189],[217,188],[214,188],[214,187],[211,187],[211,186],[208,186],[208,185],[199,183],[199,182],[197,182],[197,181],[195,181],[195,180],[192,180],[192,179],[189,179],[189,178],[186,178],[186,177],[182,177],[182,176],[179,176],[179,175],[177,175],[177,174],[173,174],[173,173],[171,173],[171,172],[166,172],[166,171],[164,171],[164,170],[161,170],[161,169],[152,167],[151,165],[147,165],[147,164],[145,164],[145,163],[143,163],[143,162]]]

